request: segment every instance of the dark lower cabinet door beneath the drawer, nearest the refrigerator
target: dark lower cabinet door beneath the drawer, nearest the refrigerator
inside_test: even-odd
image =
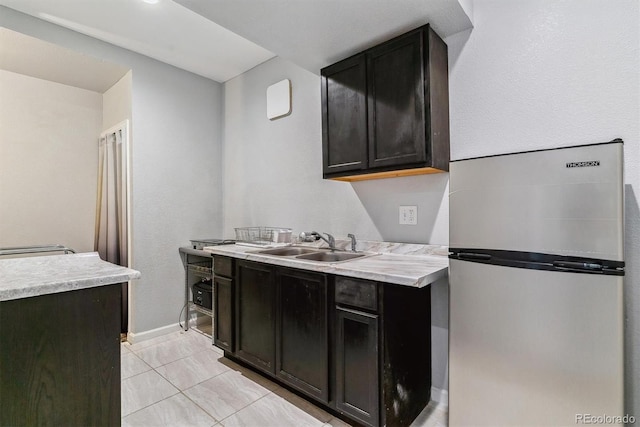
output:
[[[336,409],[379,424],[378,316],[336,307]]]

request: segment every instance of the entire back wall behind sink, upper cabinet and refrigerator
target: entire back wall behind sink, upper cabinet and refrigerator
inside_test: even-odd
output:
[[[447,38],[452,158],[622,137],[626,155],[626,406],[640,400],[638,3],[473,3],[475,28]],[[615,30],[614,30],[615,29]],[[291,116],[269,122],[266,88],[293,86]],[[448,176],[321,179],[320,81],[276,58],[225,84],[224,231],[309,228],[390,241],[448,243]],[[418,226],[397,205],[419,206]],[[446,283],[434,289],[434,386],[446,389]]]

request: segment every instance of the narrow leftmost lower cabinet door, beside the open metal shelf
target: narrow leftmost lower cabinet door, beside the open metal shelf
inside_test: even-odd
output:
[[[213,342],[217,347],[233,353],[235,351],[233,342],[233,280],[214,276],[213,286]]]

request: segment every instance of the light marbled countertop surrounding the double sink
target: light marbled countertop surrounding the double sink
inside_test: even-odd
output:
[[[326,245],[317,243],[297,246],[326,248]],[[339,249],[344,248],[346,243],[340,241],[336,246]],[[205,251],[214,255],[417,288],[445,277],[449,269],[448,251],[444,246],[363,241],[358,242],[357,249],[372,255],[349,261],[327,263],[259,254],[257,252],[261,250],[260,248],[242,245],[204,248]]]

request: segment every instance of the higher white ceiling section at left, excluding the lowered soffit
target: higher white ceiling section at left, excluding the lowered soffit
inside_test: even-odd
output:
[[[0,4],[116,46],[224,82],[273,58],[171,1],[0,0]]]

